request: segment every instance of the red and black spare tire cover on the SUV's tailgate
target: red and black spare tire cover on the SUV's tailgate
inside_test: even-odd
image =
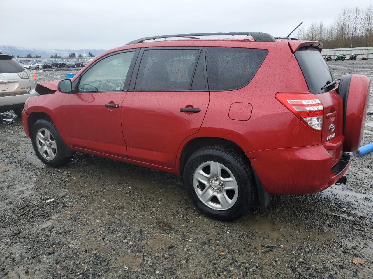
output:
[[[348,82],[350,81],[350,82]],[[356,151],[363,137],[369,102],[370,79],[364,75],[342,76],[338,94],[343,100],[343,150]]]

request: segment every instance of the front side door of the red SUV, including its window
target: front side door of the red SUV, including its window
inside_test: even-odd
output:
[[[102,58],[81,75],[75,93],[66,94],[60,115],[70,145],[126,157],[120,112],[134,54],[132,50]]]

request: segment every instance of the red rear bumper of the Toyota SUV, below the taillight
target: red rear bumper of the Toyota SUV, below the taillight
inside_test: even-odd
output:
[[[261,150],[246,154],[271,195],[307,195],[322,191],[341,178],[351,162],[343,153],[332,167],[332,156],[320,145]]]

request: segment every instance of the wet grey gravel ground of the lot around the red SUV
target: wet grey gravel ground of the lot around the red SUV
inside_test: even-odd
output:
[[[335,78],[373,79],[369,60],[328,64]],[[176,176],[81,153],[48,168],[21,120],[0,113],[0,278],[373,278],[372,163],[373,153],[354,157],[347,185],[274,196],[263,212],[219,222]]]

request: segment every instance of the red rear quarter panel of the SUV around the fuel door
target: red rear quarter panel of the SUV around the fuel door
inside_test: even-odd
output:
[[[259,44],[253,44],[253,48]],[[210,92],[210,103],[201,130],[196,136],[226,138],[245,153],[285,147],[303,147],[321,143],[321,132],[310,129],[283,106],[278,92],[308,92],[303,73],[289,45],[267,44],[267,57],[250,83],[242,89]],[[250,103],[247,121],[229,118],[232,103]],[[221,129],[223,132],[216,132]]]

